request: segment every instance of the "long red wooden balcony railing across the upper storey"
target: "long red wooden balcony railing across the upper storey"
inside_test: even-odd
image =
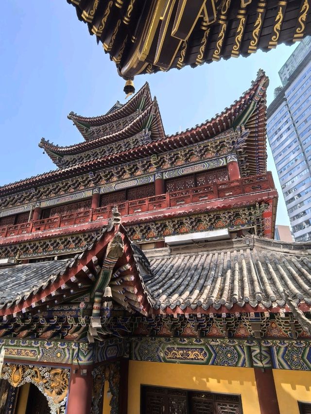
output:
[[[234,197],[274,188],[272,175],[269,172],[255,177],[241,178],[235,181],[219,181],[203,187],[169,192],[139,200],[124,201],[123,203],[118,203],[117,206],[121,216],[126,216],[168,207],[203,203],[219,198]],[[29,223],[6,225],[0,227],[0,238],[108,219],[111,216],[113,207],[113,205],[110,205],[95,209],[91,208]]]

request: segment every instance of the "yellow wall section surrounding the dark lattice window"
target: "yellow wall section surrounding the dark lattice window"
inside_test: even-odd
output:
[[[243,413],[260,414],[253,368],[130,361],[128,413],[140,414],[140,384],[241,394]]]

